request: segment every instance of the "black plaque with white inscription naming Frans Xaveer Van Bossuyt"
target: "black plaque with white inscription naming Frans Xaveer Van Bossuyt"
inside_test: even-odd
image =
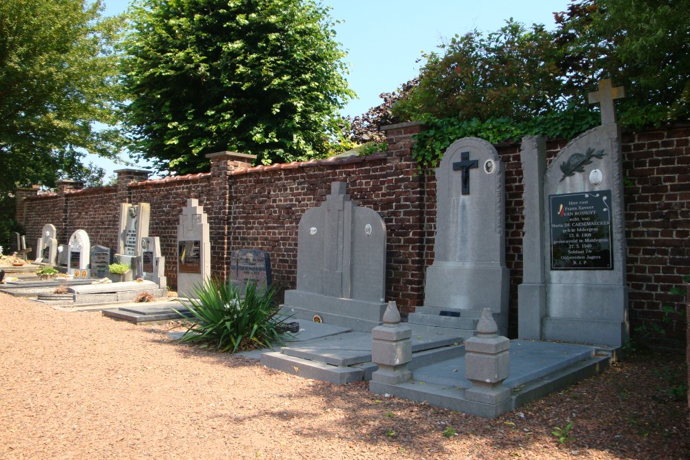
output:
[[[549,196],[551,270],[613,270],[611,190]]]

